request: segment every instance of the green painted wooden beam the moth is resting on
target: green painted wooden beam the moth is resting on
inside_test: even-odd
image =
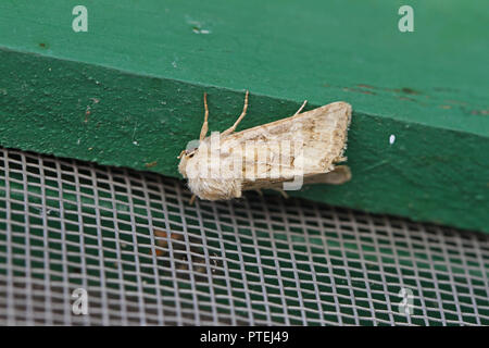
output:
[[[353,179],[294,195],[489,233],[486,1],[409,2],[2,1],[0,146],[178,176],[203,91],[211,130],[344,100]]]

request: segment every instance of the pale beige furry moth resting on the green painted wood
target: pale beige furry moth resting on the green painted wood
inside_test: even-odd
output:
[[[249,92],[235,124],[209,130],[206,94],[204,122],[198,144],[183,150],[178,171],[188,179],[193,196],[204,200],[239,198],[242,191],[262,188],[300,189],[304,184],[339,185],[351,178],[347,165],[347,134],[352,108],[343,101],[302,112],[306,101],[290,117],[235,133],[248,109]]]

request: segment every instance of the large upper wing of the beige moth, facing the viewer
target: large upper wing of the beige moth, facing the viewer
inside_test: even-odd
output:
[[[339,101],[231,134],[220,140],[224,167],[242,175],[242,190],[328,173],[344,160],[350,121]]]

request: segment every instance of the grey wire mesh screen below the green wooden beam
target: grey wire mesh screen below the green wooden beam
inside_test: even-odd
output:
[[[487,235],[189,198],[161,175],[0,149],[0,323],[489,324]]]

